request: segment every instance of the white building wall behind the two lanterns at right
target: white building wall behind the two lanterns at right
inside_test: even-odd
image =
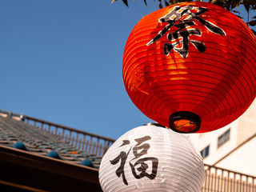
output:
[[[230,129],[230,140],[218,147],[218,137]],[[230,154],[230,151],[236,149],[248,138],[256,134],[256,101],[252,103],[250,108],[242,114],[240,118],[232,122],[230,125],[219,130],[214,130],[205,134],[188,134],[198,150],[203,150],[210,145],[209,156],[204,159],[204,162],[209,165],[214,165],[220,159]],[[218,162],[215,166],[235,170],[244,174],[256,175],[256,137],[228,157]],[[254,163],[254,164],[253,164]]]

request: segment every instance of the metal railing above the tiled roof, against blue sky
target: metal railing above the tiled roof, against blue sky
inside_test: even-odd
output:
[[[62,126],[54,122],[47,122],[26,115],[22,116],[22,120],[50,134],[56,135],[60,140],[70,143],[72,146],[78,148],[78,150],[86,151],[89,154],[96,154],[99,157],[102,157],[115,141],[112,138],[90,134],[82,130],[75,130],[68,126]]]

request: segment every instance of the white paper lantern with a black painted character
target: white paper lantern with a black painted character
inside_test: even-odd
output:
[[[104,192],[199,192],[204,177],[201,154],[190,140],[154,125],[123,134],[99,167]]]

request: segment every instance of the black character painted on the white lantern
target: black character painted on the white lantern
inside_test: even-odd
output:
[[[150,148],[150,144],[148,144],[148,143],[142,144],[142,142],[146,142],[147,140],[150,140],[150,139],[151,139],[150,136],[145,136],[142,138],[134,139],[134,141],[137,142],[137,144],[133,147],[134,158],[132,160],[130,160],[130,162],[129,162],[132,174],[134,175],[134,178],[139,179],[139,178],[147,177],[150,179],[154,179],[157,175],[158,158],[152,158],[152,157],[140,158],[142,155],[147,154],[147,150],[149,150],[149,148]],[[126,145],[130,144],[129,140],[123,140],[122,142],[123,143],[121,146],[126,146]],[[126,180],[124,166],[126,164],[126,159],[128,158],[128,155],[129,155],[131,149],[132,149],[132,147],[130,147],[130,149],[128,150],[127,153],[124,151],[121,151],[120,154],[118,155],[118,157],[114,158],[113,160],[110,160],[110,163],[112,165],[115,165],[121,159],[121,164],[118,167],[118,170],[116,170],[116,174],[118,177],[120,177],[122,175],[122,181],[126,184],[126,186],[128,186],[128,182]],[[140,158],[140,159],[138,159],[138,158]],[[137,160],[137,162],[132,163],[132,161],[134,161],[134,160]],[[147,164],[148,162],[152,162],[152,170],[151,170],[150,174],[146,173],[146,170],[149,168],[149,165]],[[138,172],[140,172],[140,173],[138,173]]]

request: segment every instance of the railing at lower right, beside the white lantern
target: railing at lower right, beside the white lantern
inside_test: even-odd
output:
[[[256,192],[256,176],[205,165],[202,192]]]

